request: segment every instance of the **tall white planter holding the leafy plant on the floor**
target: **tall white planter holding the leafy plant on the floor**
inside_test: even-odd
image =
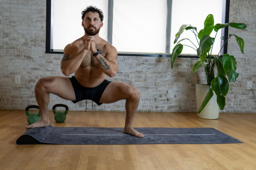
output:
[[[202,85],[202,84],[195,85],[197,112],[198,112],[202,102],[204,101],[204,98],[206,97],[206,94],[208,93],[208,91],[209,91],[208,85]],[[218,119],[220,109],[219,109],[216,99],[217,99],[217,96],[214,93],[213,97],[208,102],[208,104],[204,107],[202,112],[197,114],[197,117],[200,117],[202,119]]]

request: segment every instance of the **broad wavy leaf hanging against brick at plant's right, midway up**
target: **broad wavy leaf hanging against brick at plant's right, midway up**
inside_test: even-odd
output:
[[[238,77],[238,73],[235,72],[235,70],[237,70],[235,57],[230,56],[229,54],[223,54],[223,68],[227,73],[229,82],[235,82]]]

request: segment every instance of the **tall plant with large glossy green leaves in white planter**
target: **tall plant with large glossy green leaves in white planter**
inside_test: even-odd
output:
[[[232,22],[226,24],[216,24],[214,26],[213,15],[209,14],[204,21],[204,29],[197,32],[197,28],[194,26],[182,25],[178,33],[175,35],[176,38],[174,44],[176,43],[176,45],[173,48],[173,52],[171,54],[171,68],[173,68],[173,63],[175,62],[178,55],[182,53],[183,44],[181,44],[180,42],[184,40],[190,41],[190,39],[187,38],[178,41],[182,32],[184,30],[190,30],[192,34],[195,35],[195,38],[197,40],[197,45],[190,41],[192,46],[189,46],[190,48],[193,48],[197,51],[197,56],[200,59],[195,63],[192,73],[204,67],[207,78],[207,85],[209,89],[197,113],[200,113],[204,109],[204,107],[208,104],[209,100],[213,97],[214,93],[216,94],[216,102],[218,104],[218,107],[223,110],[226,103],[225,96],[228,93],[229,82],[235,82],[236,78],[238,77],[238,73],[235,72],[237,68],[235,57],[230,56],[229,54],[220,54],[220,52],[224,44],[227,43],[228,39],[230,37],[235,37],[237,44],[239,45],[240,51],[244,53],[244,40],[242,38],[236,36],[235,34],[229,34],[228,39],[224,42],[219,53],[216,56],[212,56],[211,54],[214,40],[216,37],[216,35],[215,37],[210,37],[211,32],[214,30],[217,34],[220,29],[227,26],[237,29],[246,28],[246,24]],[[215,71],[217,70],[217,73],[214,73],[215,66]]]

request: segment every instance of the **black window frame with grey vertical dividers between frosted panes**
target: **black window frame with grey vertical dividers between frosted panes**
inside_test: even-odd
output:
[[[54,51],[54,49],[51,49],[51,38],[52,38],[52,0],[46,0],[46,39],[45,39],[45,53],[52,53],[52,54],[63,54],[62,51]],[[223,6],[223,12],[225,12],[225,19],[224,23],[228,23],[229,21],[229,7],[230,7],[230,0],[223,0],[223,2],[226,2],[225,8]],[[171,7],[172,7],[172,0],[167,0],[167,8],[168,8],[168,14],[167,14],[167,26],[166,26],[166,53],[163,54],[156,54],[156,53],[123,53],[118,52],[118,56],[147,56],[147,57],[171,57],[171,51],[170,51],[170,39],[171,39]],[[111,10],[113,9],[113,0],[108,0],[108,12],[109,12],[109,20],[108,20],[108,27],[111,27],[110,31],[108,30],[107,38],[108,42],[112,44],[112,19],[113,19],[113,13]],[[223,42],[225,42],[228,39],[228,27],[224,28],[224,36]],[[223,35],[222,34],[222,35]],[[227,53],[228,51],[228,42],[223,47],[223,54]],[[198,58],[198,56],[194,54],[181,54],[178,57],[180,58]]]

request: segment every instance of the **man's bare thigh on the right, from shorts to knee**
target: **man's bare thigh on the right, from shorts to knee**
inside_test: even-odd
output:
[[[138,93],[135,87],[122,82],[111,82],[102,93],[100,102],[114,103],[119,100],[128,99],[133,93]]]

